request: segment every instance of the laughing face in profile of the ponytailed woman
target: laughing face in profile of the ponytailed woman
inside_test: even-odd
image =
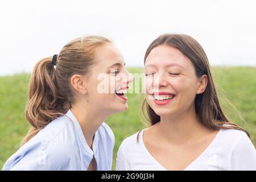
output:
[[[125,94],[133,76],[125,68],[121,52],[112,44],[105,43],[96,52],[97,64],[85,76],[89,104],[113,114],[127,109]],[[118,94],[117,94],[118,93]]]

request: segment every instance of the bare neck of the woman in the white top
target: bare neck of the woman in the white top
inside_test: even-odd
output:
[[[160,116],[158,125],[160,135],[176,144],[188,142],[208,130],[197,117],[195,107],[184,113]]]

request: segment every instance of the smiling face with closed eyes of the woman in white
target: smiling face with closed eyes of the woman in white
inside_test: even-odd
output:
[[[147,103],[160,116],[195,109],[195,96],[207,85],[206,75],[198,78],[192,62],[179,49],[166,45],[148,54],[145,79]]]

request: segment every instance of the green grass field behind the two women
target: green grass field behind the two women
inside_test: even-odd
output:
[[[130,68],[129,71],[141,73],[143,69]],[[225,113],[233,122],[250,131],[256,146],[256,68],[214,67],[213,76],[217,88],[222,90],[218,93]],[[0,168],[18,149],[29,127],[24,115],[29,77],[27,74],[0,77]],[[224,96],[239,110],[246,123]],[[111,115],[106,121],[115,134],[113,169],[122,140],[147,126],[140,117],[141,94],[127,94],[127,97],[129,109]]]

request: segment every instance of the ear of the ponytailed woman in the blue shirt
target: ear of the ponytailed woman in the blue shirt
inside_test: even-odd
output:
[[[87,94],[84,77],[82,77],[81,75],[73,75],[70,82],[77,92],[81,94]]]

